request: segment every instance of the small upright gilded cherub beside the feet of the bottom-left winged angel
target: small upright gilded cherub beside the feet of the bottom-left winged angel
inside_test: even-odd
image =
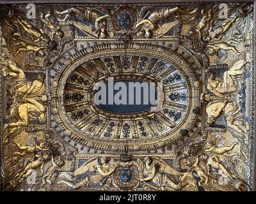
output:
[[[52,163],[52,166],[47,170],[47,173],[45,173],[44,176],[42,177],[43,186],[45,186],[46,182],[49,183],[51,186],[52,175],[54,174],[55,171],[59,170],[61,166],[65,164],[65,162],[61,158],[56,159],[56,161],[54,161],[53,156],[51,159],[51,163]]]

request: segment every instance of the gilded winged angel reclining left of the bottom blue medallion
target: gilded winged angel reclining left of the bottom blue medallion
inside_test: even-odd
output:
[[[103,186],[109,176],[116,170],[118,164],[113,159],[109,160],[108,157],[92,157],[74,173],[61,173],[60,177],[65,177],[65,179],[61,179],[58,184],[67,184],[73,189],[89,187],[95,184]],[[85,173],[86,175],[84,175]],[[81,176],[82,179],[77,179],[77,177]]]

